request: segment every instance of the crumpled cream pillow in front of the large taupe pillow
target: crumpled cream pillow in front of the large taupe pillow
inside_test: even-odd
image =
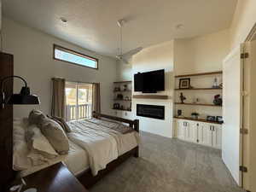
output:
[[[30,125],[26,130],[25,137],[28,148],[34,154],[42,154],[48,159],[53,159],[58,155],[37,125]]]

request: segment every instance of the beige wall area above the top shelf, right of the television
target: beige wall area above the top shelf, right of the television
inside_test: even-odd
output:
[[[197,38],[177,39],[174,41],[175,74],[220,71],[229,50],[229,30]]]

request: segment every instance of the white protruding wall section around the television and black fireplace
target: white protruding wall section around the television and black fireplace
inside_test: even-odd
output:
[[[158,95],[169,96],[168,100],[132,99],[131,112],[119,112],[119,116],[128,119],[139,119],[140,130],[148,131],[164,137],[172,137],[172,92],[173,92],[173,41],[157,44],[143,49],[131,59],[130,65],[119,63],[117,76],[119,80],[133,80],[138,72],[148,72],[165,69],[166,90]],[[132,83],[133,84],[133,83]],[[132,92],[132,94],[142,94]],[[149,94],[151,95],[151,94]],[[150,119],[136,115],[137,104],[163,105],[166,110],[165,120]]]

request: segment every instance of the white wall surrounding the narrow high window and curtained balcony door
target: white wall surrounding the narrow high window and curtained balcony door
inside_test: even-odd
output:
[[[79,67],[53,60],[53,44],[74,49],[99,59],[99,70]],[[33,94],[40,96],[40,106],[15,106],[15,117],[26,116],[32,108],[50,113],[51,81],[62,77],[70,81],[100,82],[102,113],[111,113],[113,81],[116,80],[116,61],[95,55],[43,32],[22,26],[13,20],[3,19],[3,50],[15,57],[15,75],[25,78]],[[20,91],[20,81],[15,80],[15,91]]]

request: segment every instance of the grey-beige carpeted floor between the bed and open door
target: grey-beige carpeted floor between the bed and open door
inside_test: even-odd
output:
[[[217,149],[141,133],[140,158],[131,158],[90,192],[241,192]]]

